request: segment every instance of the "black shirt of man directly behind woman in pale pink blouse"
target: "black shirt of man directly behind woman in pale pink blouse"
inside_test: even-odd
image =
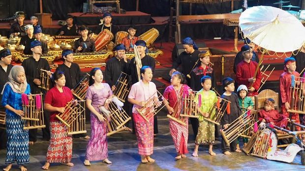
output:
[[[127,74],[131,75],[132,84],[135,84],[139,81],[137,68],[136,68],[137,64],[134,62],[134,60],[135,57],[133,57],[130,60],[129,65],[126,65],[127,68],[125,69],[125,71],[127,71]],[[150,66],[152,68],[152,73],[154,72],[155,60],[153,57],[145,54],[145,57],[141,59],[141,62],[142,62],[142,66]]]

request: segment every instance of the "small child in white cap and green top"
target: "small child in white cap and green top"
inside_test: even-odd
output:
[[[251,99],[251,97],[247,96],[248,94],[248,88],[245,85],[240,85],[237,88],[238,93],[238,102],[241,107],[242,113],[245,113],[247,110],[251,110],[254,106],[254,103]],[[248,139],[243,138],[244,146],[247,144]],[[237,149],[240,149],[239,145],[239,139],[237,141]]]

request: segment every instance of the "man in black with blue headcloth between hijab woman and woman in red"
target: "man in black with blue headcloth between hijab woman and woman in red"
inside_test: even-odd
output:
[[[27,82],[30,85],[30,92],[31,94],[38,94],[42,93],[42,99],[44,99],[44,95],[46,93],[45,89],[42,89],[39,87],[41,85],[40,80],[40,69],[50,71],[50,65],[47,59],[40,57],[40,54],[42,53],[41,49],[41,42],[38,40],[34,40],[30,43],[30,50],[32,52],[32,57],[26,58],[22,62],[22,66],[25,69],[25,74],[27,76]],[[47,73],[49,76],[51,76],[51,73]],[[50,129],[49,129],[49,113],[44,111],[44,121],[46,128],[42,128],[42,139],[43,140],[50,140]],[[37,129],[30,129],[29,130],[29,143],[33,144],[37,141]]]

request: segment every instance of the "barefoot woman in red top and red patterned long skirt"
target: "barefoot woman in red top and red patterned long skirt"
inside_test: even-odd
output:
[[[67,134],[65,126],[56,114],[64,113],[65,106],[73,99],[71,89],[65,86],[64,73],[56,71],[52,76],[52,87],[46,94],[43,108],[50,114],[51,139],[46,155],[46,163],[42,169],[48,170],[50,163],[61,163],[66,166],[74,166],[72,158],[72,136]]]

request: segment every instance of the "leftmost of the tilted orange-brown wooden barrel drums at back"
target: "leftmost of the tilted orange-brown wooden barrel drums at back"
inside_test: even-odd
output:
[[[96,51],[103,50],[113,39],[113,34],[109,29],[103,29],[95,38],[94,45]]]

